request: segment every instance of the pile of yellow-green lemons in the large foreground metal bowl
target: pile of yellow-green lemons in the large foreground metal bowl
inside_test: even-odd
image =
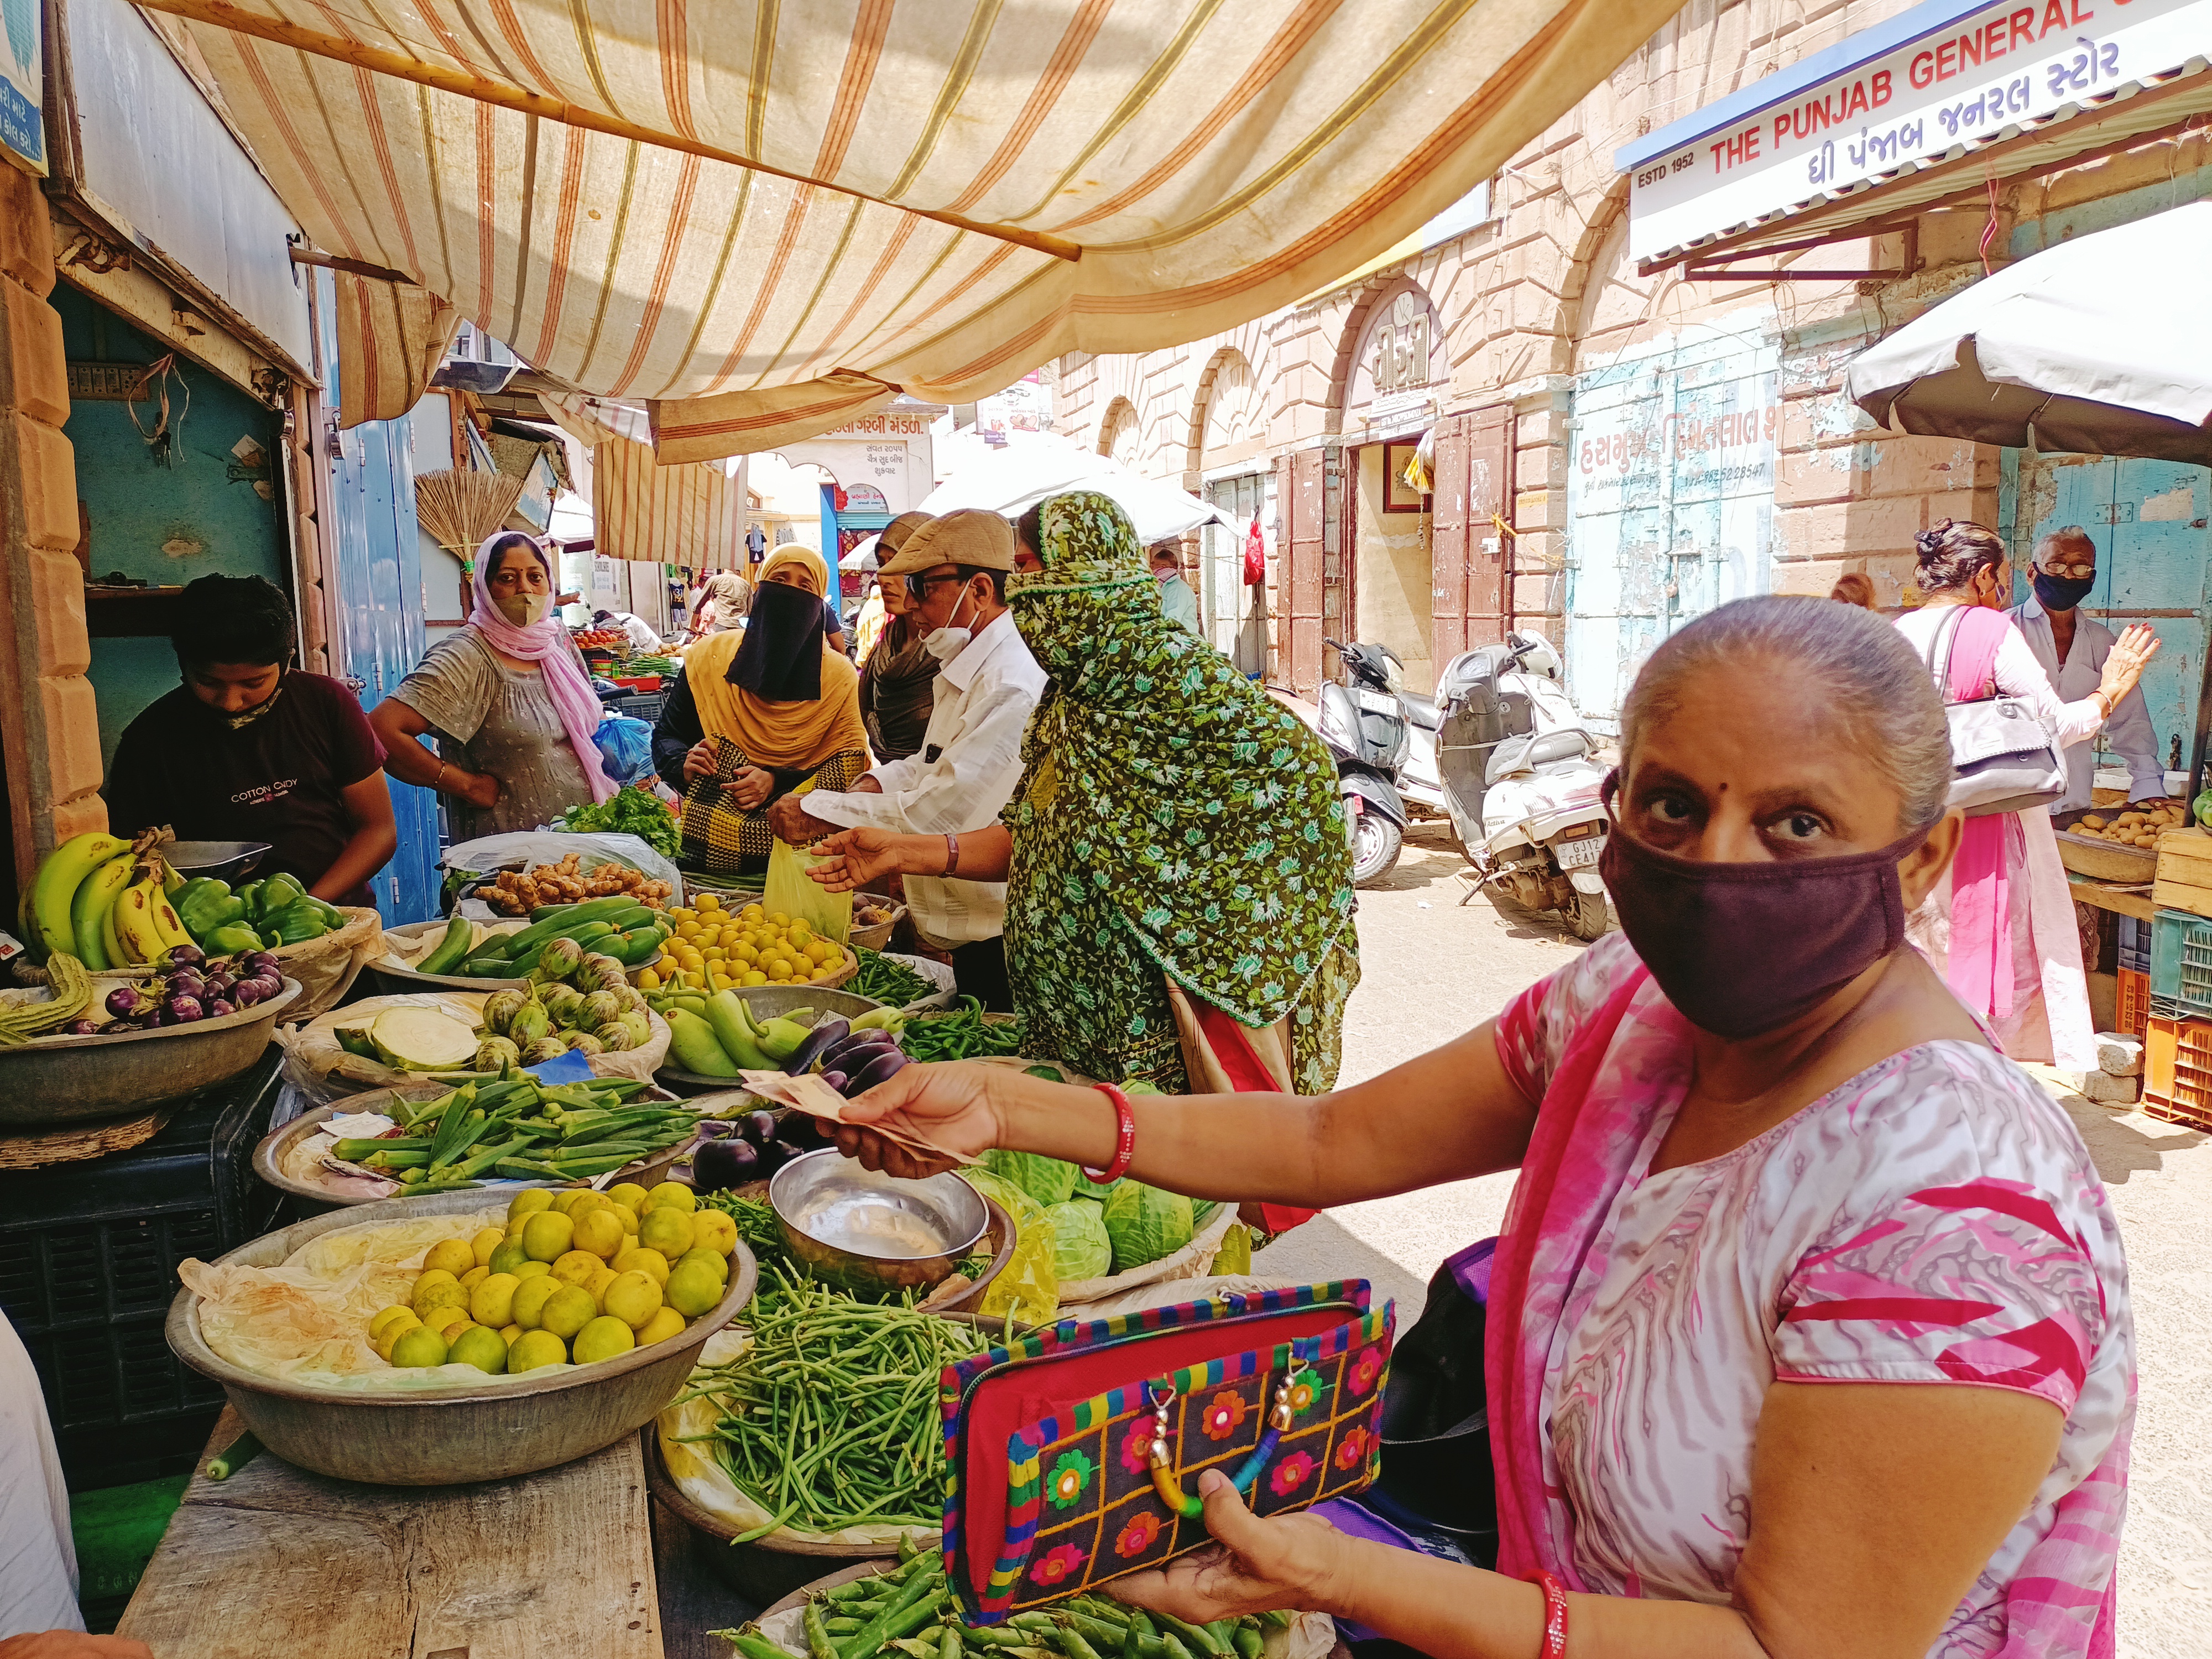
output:
[[[737,1223],[681,1181],[524,1188],[507,1228],[431,1245],[407,1303],[369,1321],[392,1365],[535,1371],[675,1336],[721,1301]]]

